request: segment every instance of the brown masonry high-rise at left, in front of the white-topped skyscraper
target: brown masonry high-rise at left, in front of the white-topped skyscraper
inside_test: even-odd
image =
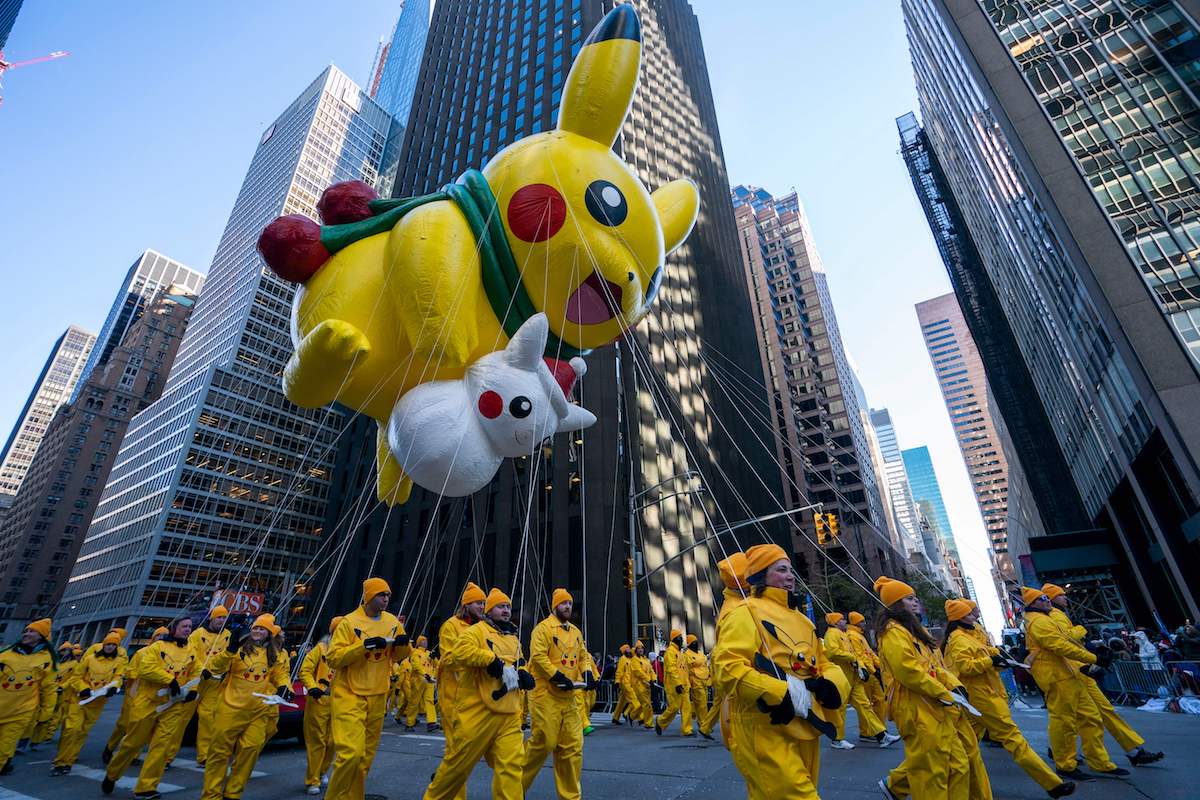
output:
[[[0,519],[0,644],[53,614],[130,419],[162,392],[194,302],[181,285],[151,297],[107,363],[54,415]]]

